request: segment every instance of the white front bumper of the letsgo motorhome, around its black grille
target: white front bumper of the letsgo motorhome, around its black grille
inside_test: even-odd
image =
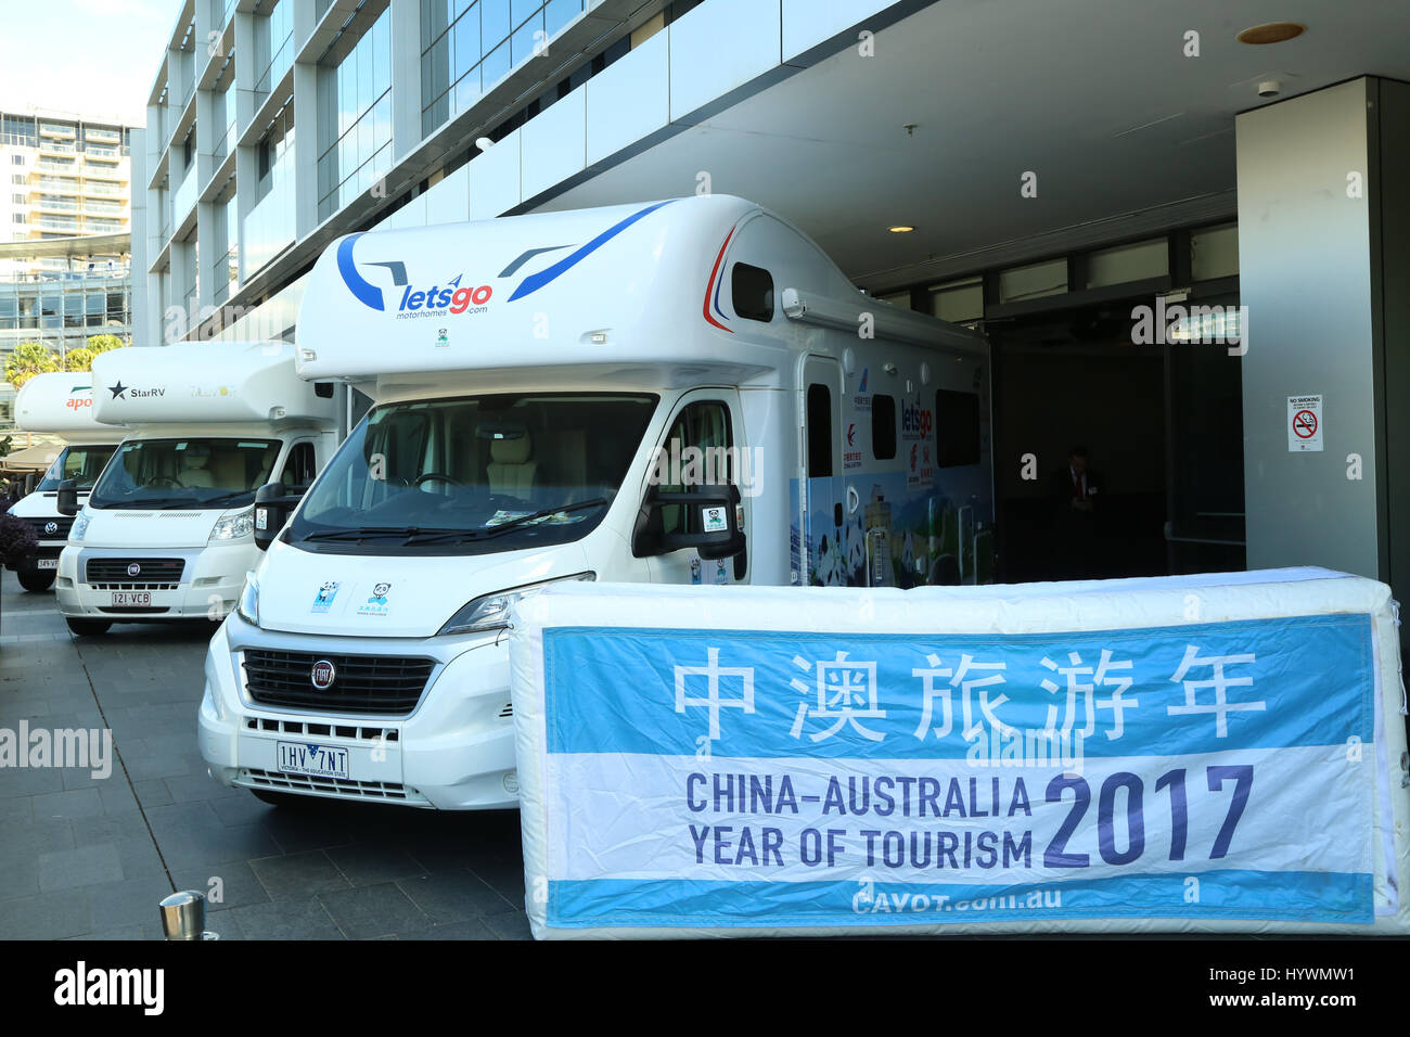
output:
[[[251,700],[243,666],[247,648],[417,655],[434,657],[436,667],[406,715],[278,708]],[[314,638],[261,631],[231,615],[206,655],[200,755],[212,776],[227,786],[434,810],[513,808],[519,783],[509,701],[503,636]],[[281,770],[279,742],[343,751],[348,776]]]

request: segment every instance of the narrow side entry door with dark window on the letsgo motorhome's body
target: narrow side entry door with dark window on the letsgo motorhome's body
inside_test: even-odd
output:
[[[842,364],[807,356],[798,378],[798,507],[804,530],[805,571],[799,583],[825,587],[856,584],[864,574],[862,529],[849,528],[842,475]]]

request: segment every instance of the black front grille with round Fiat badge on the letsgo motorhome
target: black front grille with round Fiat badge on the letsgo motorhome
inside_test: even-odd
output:
[[[333,687],[313,687],[313,665],[333,663]],[[245,652],[245,687],[264,705],[326,710],[340,714],[406,714],[416,708],[434,659],[382,655],[312,655],[309,652]]]

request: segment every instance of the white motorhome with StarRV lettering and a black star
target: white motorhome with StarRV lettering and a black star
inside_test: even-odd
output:
[[[93,361],[93,385],[97,420],[134,432],[59,556],[69,629],[223,618],[259,560],[255,491],[307,485],[337,446],[334,387],[300,380],[282,341],[114,350]]]

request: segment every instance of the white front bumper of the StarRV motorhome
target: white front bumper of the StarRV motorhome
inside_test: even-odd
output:
[[[185,567],[175,584],[144,583],[92,584],[86,580],[89,559],[171,559]],[[75,619],[148,622],[154,619],[213,619],[228,615],[240,597],[245,573],[259,562],[251,542],[217,543],[207,547],[85,547],[69,545],[59,554],[54,597],[59,612]],[[114,594],[147,594],[142,604]]]

